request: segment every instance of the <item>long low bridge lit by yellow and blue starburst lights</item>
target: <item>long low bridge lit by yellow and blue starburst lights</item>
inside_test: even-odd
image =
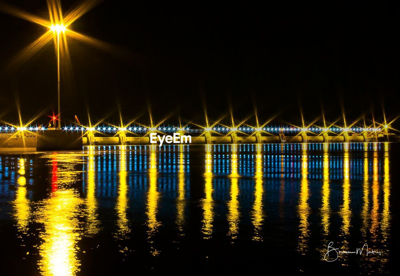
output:
[[[208,121],[208,120],[207,120]],[[347,126],[330,125],[222,125],[218,122],[206,126],[189,123],[168,125],[165,122],[150,126],[141,123],[111,125],[64,125],[59,130],[39,125],[0,125],[0,147],[36,147],[40,136],[59,133],[79,139],[80,145],[146,145],[150,144],[150,133],[157,135],[190,135],[194,144],[236,144],[236,143],[343,143],[399,141],[396,130],[387,123]]]

